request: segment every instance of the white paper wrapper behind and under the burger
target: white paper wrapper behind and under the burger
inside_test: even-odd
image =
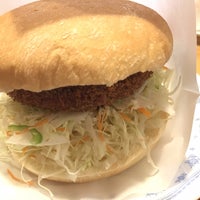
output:
[[[0,5],[0,13],[28,2],[30,1],[4,1]],[[177,114],[168,123],[162,139],[152,151],[152,158],[159,172],[153,174],[147,160],[143,159],[122,174],[92,183],[64,184],[43,181],[42,183],[54,193],[55,199],[133,199],[149,196],[172,186],[184,160],[198,95],[195,79],[195,5],[193,1],[188,0],[136,2],[155,9],[168,22],[174,37],[174,50],[167,66],[176,68],[182,77],[182,88],[176,104]],[[7,197],[6,199],[49,199],[47,193],[41,189],[11,183],[6,175],[6,165],[0,165],[0,195]]]

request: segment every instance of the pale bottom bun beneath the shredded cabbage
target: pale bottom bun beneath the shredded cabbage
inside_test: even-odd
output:
[[[167,119],[168,115],[166,113],[162,113],[162,118]],[[166,121],[167,122],[167,121]],[[95,181],[101,178],[110,177],[116,174],[123,172],[124,170],[130,168],[142,158],[144,158],[155,144],[159,141],[161,137],[161,133],[163,132],[165,127],[162,130],[152,129],[148,130],[145,133],[146,140],[146,148],[143,148],[140,144],[134,145],[132,150],[129,153],[129,156],[118,160],[113,166],[108,169],[95,169],[90,168],[84,172],[78,173],[77,177],[73,180],[72,175],[70,175],[66,170],[59,167],[59,165],[41,154],[37,154],[36,157],[28,157],[23,162],[23,153],[12,152],[12,156],[15,160],[20,162],[22,166],[24,166],[28,171],[34,173],[42,179],[48,179],[59,182],[89,182]],[[12,150],[11,150],[12,151]],[[45,162],[44,162],[45,161]]]

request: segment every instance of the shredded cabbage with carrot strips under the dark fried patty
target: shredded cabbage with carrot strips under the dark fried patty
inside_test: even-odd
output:
[[[28,107],[2,93],[1,141],[8,150],[23,153],[24,160],[38,153],[52,159],[73,181],[90,168],[109,169],[130,155],[136,144],[148,150],[146,128],[163,128],[166,119],[159,117],[161,111],[174,114],[169,90],[172,76],[172,70],[155,71],[135,95],[81,113]],[[32,129],[42,135],[36,143],[31,142]]]

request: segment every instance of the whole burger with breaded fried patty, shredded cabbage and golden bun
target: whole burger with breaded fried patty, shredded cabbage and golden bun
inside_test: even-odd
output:
[[[173,39],[158,13],[128,0],[40,0],[0,24],[0,134],[15,162],[87,182],[149,158],[173,114]]]

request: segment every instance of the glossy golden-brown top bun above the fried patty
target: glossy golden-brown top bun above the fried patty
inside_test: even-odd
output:
[[[164,65],[172,52],[167,23],[127,0],[41,0],[4,14],[0,24],[5,92],[110,86]]]

